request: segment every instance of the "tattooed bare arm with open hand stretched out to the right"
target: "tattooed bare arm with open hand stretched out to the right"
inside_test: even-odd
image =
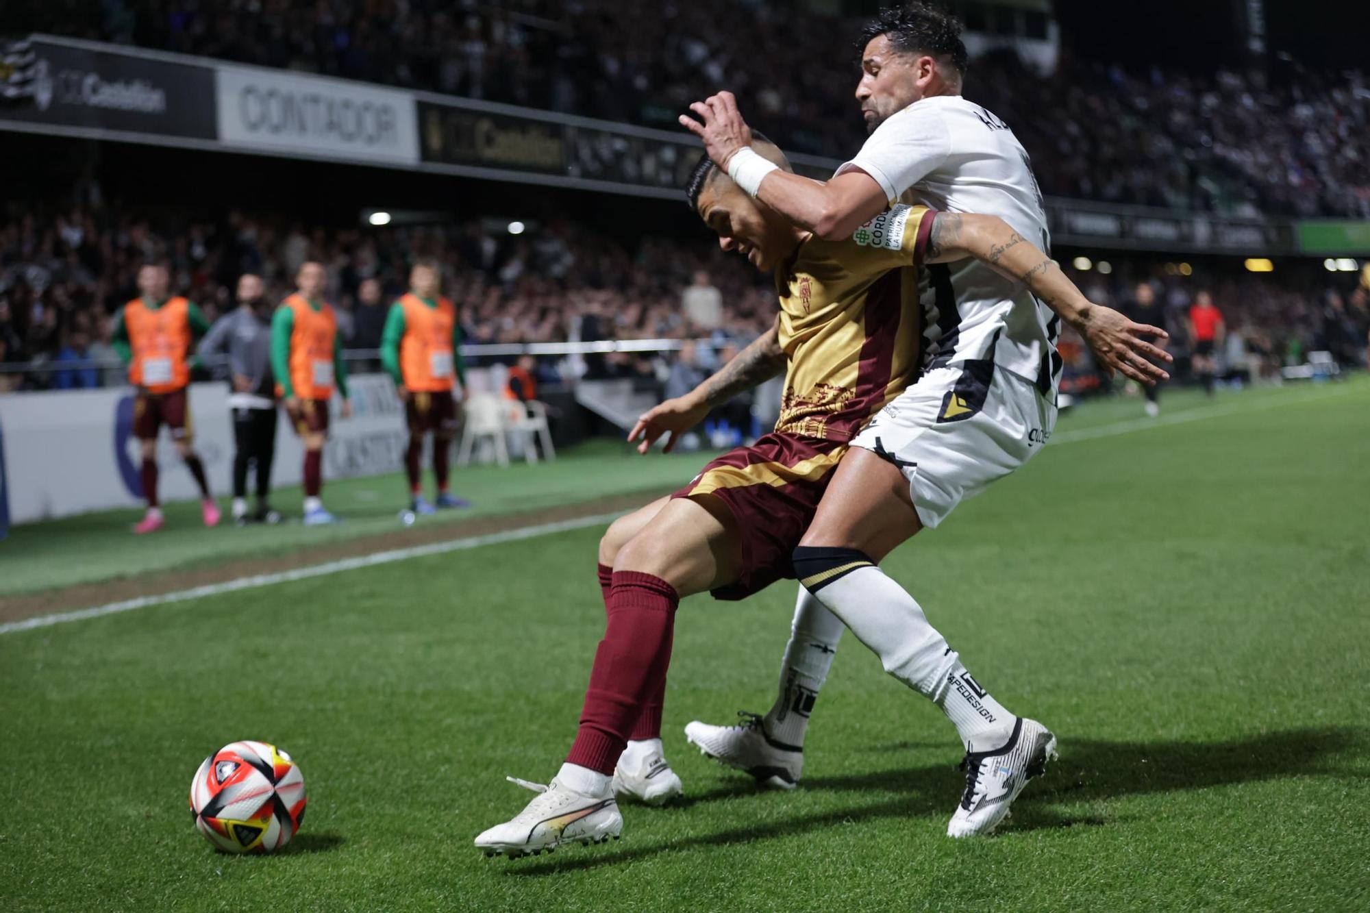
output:
[[[964,256],[974,256],[1026,285],[1037,300],[1075,328],[1110,376],[1121,372],[1143,384],[1170,377],[1158,362],[1169,362],[1171,356],[1143,339],[1166,339],[1163,329],[1134,324],[1111,307],[1091,302],[1055,260],[1003,219],[938,212],[929,232],[923,260],[945,262]]]

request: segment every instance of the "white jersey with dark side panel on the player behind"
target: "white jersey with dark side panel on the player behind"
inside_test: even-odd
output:
[[[922,99],[891,115],[837,174],[852,169],[873,177],[892,204],[901,199],[945,212],[997,215],[1051,252],[1028,152],[1003,121],[960,96]],[[1021,282],[977,259],[923,271],[925,367],[992,359],[1054,393],[1060,318]]]

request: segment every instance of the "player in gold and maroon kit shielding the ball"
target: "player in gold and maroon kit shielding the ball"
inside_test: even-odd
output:
[[[778,148],[756,148],[788,170]],[[575,742],[549,786],[515,780],[541,795],[475,838],[486,854],[616,838],[616,796],[659,803],[680,794],[659,738],[675,609],[690,594],[741,599],[795,577],[790,555],[843,454],[917,377],[923,263],[975,256],[1034,291],[1084,303],[1059,269],[1034,267],[1043,252],[1014,241],[995,217],[943,219],[927,207],[896,206],[848,237],[823,240],[754,200],[707,159],[688,195],[725,251],[774,270],[780,314],[696,391],[644,415],[630,439],[641,437],[644,452],[663,435],[673,443],[718,403],[784,370],[781,418],[773,433],[610,526],[599,554],[608,624]],[[812,596],[801,589],[800,599]]]

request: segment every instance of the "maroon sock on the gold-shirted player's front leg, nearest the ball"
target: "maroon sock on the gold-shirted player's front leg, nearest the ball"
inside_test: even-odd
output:
[[[678,605],[675,589],[660,577],[614,573],[608,625],[595,653],[581,728],[567,764],[614,773],[643,706],[666,683]]]

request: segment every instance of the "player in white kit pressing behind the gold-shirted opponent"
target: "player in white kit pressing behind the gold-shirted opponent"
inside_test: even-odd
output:
[[[780,171],[749,149],[751,130],[727,92],[692,104],[700,121],[682,115],[681,123],[748,193],[819,237],[848,236],[907,199],[940,218],[997,215],[1017,232],[1004,249],[1030,240],[1049,251],[1028,154],[1003,121],[960,96],[960,23],[912,3],[881,14],[863,38],[856,99],[870,138],[827,182]],[[1040,269],[1049,265],[1044,259]],[[1163,330],[1106,307],[1038,300],[993,263],[959,260],[926,271],[923,374],[854,439],[795,550],[808,598],[801,594],[796,607],[775,706],[744,725],[693,722],[686,736],[759,779],[793,786],[808,713],[845,624],[892,676],[955,724],[966,746],[966,787],[947,832],[959,838],[999,825],[1026,780],[1054,757],[1056,738],[1004,709],[878,562],[1051,437],[1060,321],[1080,330],[1110,373],[1155,382],[1166,374],[1147,356],[1170,359],[1143,339],[1164,337]]]

